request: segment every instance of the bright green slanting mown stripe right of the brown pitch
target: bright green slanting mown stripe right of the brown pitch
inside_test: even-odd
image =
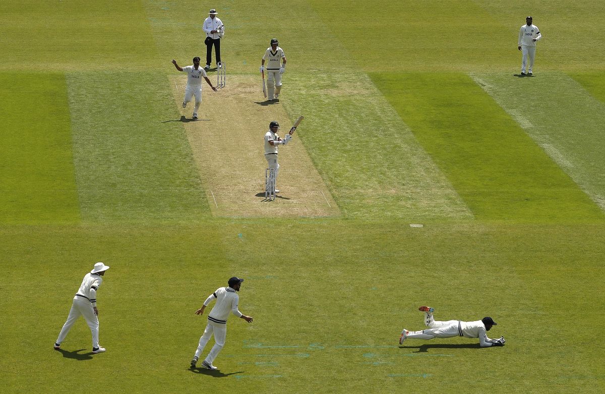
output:
[[[603,219],[597,205],[469,76],[371,78],[477,218]]]

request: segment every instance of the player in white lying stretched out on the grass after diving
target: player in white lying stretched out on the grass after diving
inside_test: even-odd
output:
[[[404,343],[407,338],[430,340],[433,338],[479,338],[481,347],[504,346],[506,340],[504,337],[498,339],[488,338],[486,331],[489,331],[496,323],[489,316],[476,321],[448,320],[436,321],[433,318],[434,308],[420,306],[420,312],[424,312],[424,324],[428,327],[422,331],[404,331],[399,337],[399,344]]]

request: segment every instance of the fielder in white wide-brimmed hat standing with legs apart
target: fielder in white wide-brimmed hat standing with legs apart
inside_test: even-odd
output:
[[[54,343],[54,349],[60,349],[61,343],[67,337],[67,333],[70,332],[71,326],[76,322],[77,318],[82,315],[86,320],[90,332],[93,334],[93,353],[105,352],[105,347],[99,346],[99,310],[97,309],[97,290],[101,283],[103,283],[102,276],[105,275],[105,271],[109,270],[110,267],[99,262],[94,265],[94,268],[90,273],[84,276],[82,284],[74,296],[73,304],[71,305],[70,314],[67,317],[67,321],[63,325],[59,337]]]

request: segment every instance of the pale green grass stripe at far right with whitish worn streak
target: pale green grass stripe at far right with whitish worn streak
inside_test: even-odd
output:
[[[605,104],[595,98],[604,79],[587,74],[589,91],[558,72],[474,79],[605,210]]]

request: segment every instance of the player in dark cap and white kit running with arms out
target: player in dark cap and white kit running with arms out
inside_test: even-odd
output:
[[[212,361],[217,358],[218,352],[223,349],[225,344],[225,339],[227,337],[227,317],[229,317],[229,312],[237,317],[243,318],[248,323],[252,323],[252,320],[254,320],[252,317],[242,314],[238,309],[240,297],[237,295],[236,291],[240,291],[241,282],[244,282],[244,280],[238,277],[234,276],[230,278],[228,281],[229,287],[218,288],[217,291],[208,296],[208,299],[204,301],[204,305],[195,311],[195,314],[201,315],[212,300],[217,300],[214,308],[212,308],[212,311],[208,314],[208,325],[204,330],[204,335],[200,338],[200,343],[191,360],[192,368],[195,368],[195,364],[197,364],[197,361],[200,359],[204,346],[206,346],[206,343],[208,343],[212,335],[214,335],[215,344],[212,346],[206,359],[201,362],[201,366],[206,369],[218,369],[212,365]]]

